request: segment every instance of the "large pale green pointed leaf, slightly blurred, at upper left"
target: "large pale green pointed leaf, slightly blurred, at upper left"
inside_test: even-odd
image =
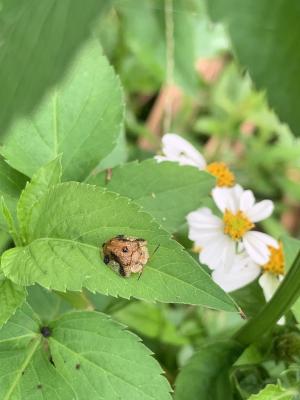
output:
[[[28,176],[62,153],[63,178],[83,180],[114,149],[122,118],[119,80],[91,39],[39,106],[12,124],[1,153]]]

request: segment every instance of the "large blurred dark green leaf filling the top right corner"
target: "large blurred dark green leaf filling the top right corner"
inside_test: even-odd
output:
[[[266,90],[271,107],[299,135],[299,2],[274,0],[271,8],[268,0],[210,0],[207,5],[212,18],[228,26],[235,53],[256,86]]]

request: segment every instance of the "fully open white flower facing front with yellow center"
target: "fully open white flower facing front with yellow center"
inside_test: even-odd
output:
[[[189,239],[201,247],[201,263],[212,269],[228,265],[242,245],[253,262],[263,265],[270,257],[269,246],[278,247],[271,236],[253,231],[255,223],[269,217],[273,202],[263,200],[255,204],[251,190],[239,185],[233,188],[215,188],[213,199],[223,213],[216,217],[208,208],[200,208],[188,214]]]

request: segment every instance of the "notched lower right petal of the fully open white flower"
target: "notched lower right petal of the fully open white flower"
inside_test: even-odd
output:
[[[257,231],[247,232],[243,237],[246,252],[254,262],[264,265],[270,257],[268,246],[278,248],[278,242],[271,236]]]

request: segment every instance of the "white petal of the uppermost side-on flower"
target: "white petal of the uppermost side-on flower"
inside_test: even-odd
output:
[[[181,165],[192,165],[199,169],[206,167],[201,153],[187,140],[174,133],[162,137],[163,153],[169,161],[177,161]]]

